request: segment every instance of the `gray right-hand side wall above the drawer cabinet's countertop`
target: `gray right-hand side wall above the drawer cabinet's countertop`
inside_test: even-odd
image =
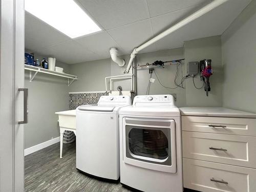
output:
[[[256,1],[222,35],[223,106],[256,113]]]

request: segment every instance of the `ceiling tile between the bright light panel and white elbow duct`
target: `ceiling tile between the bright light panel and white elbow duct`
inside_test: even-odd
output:
[[[78,37],[74,40],[88,50],[97,53],[100,58],[109,58],[111,47],[117,48],[119,55],[123,54],[123,50],[119,47],[116,41],[105,31],[84,37]]]

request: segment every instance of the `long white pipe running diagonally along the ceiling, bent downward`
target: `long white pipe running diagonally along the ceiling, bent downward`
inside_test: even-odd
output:
[[[192,22],[193,20],[197,19],[198,17],[204,15],[205,13],[211,11],[212,9],[220,6],[221,4],[227,2],[228,0],[215,0],[211,3],[209,3],[208,5],[204,6],[202,9],[196,11],[195,13],[189,15],[188,17],[184,18],[183,20],[181,20],[179,23],[175,24],[174,26],[170,27],[169,29],[165,30],[164,32],[160,33],[159,35],[155,36],[154,38],[152,38],[151,40],[145,42],[144,44],[142,44],[140,47],[135,48],[133,50],[133,52],[131,53],[131,58],[129,60],[129,63],[127,65],[126,70],[124,71],[124,73],[129,73],[129,70],[131,68],[132,62],[134,57],[136,56],[136,54],[141,51],[142,49],[146,48],[147,46],[150,46],[152,44],[154,44],[154,42],[160,40],[161,38],[169,35],[170,33],[173,33],[174,31],[180,29],[181,27],[185,26],[186,24]]]

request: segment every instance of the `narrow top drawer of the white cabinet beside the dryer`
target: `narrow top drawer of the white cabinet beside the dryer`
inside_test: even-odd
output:
[[[228,117],[181,117],[182,131],[256,136],[256,119]]]

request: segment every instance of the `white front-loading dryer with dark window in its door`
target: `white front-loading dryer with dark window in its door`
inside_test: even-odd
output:
[[[142,191],[182,192],[180,111],[173,96],[136,96],[119,119],[121,183]]]

